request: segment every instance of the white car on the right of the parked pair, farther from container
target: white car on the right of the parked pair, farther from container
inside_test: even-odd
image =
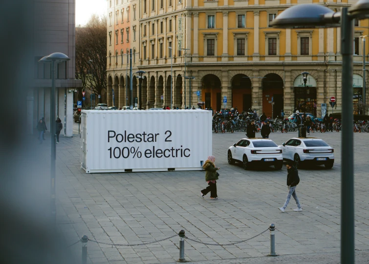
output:
[[[299,163],[322,165],[331,169],[334,163],[334,150],[324,140],[314,137],[293,137],[279,146],[284,160]]]

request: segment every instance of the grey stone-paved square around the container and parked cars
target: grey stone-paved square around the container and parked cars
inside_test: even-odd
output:
[[[78,132],[78,124],[76,129]],[[272,133],[282,144],[295,132]],[[80,169],[80,138],[61,138],[57,145],[58,223],[71,243],[87,235],[115,244],[139,244],[170,237],[184,229],[189,238],[232,243],[252,237],[274,223],[276,252],[269,252],[269,231],[238,245],[214,246],[185,241],[185,258],[198,264],[339,263],[341,133],[314,133],[335,149],[333,169],[300,170],[297,194],[303,207],[285,213],[286,169],[243,170],[228,165],[227,149],[244,133],[213,134],[213,154],[221,168],[218,200],[200,197],[203,171],[95,173]],[[355,247],[357,263],[369,250],[368,133],[355,133]],[[89,242],[89,263],[174,263],[178,237],[142,246],[109,246]],[[81,255],[81,244],[71,247]],[[247,258],[247,259],[245,259]]]

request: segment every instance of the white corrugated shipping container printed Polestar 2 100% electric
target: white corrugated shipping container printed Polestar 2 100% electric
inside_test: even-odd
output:
[[[87,173],[201,170],[212,154],[206,110],[82,111]]]

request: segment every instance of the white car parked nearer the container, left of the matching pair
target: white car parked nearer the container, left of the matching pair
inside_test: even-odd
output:
[[[242,162],[247,170],[252,164],[259,166],[273,166],[281,170],[283,166],[282,149],[271,139],[242,138],[228,149],[228,163]]]

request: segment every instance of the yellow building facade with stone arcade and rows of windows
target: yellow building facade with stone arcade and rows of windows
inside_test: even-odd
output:
[[[269,22],[295,4],[316,3],[339,11],[354,2],[137,0],[139,37],[134,48],[138,61],[133,72],[146,72],[142,106],[170,105],[172,94],[173,106],[182,109],[204,102],[204,108],[217,111],[252,108],[274,118],[282,109],[286,114],[298,109],[320,116],[322,104],[327,105],[327,113],[332,112],[329,98],[334,96],[337,104],[333,111],[340,112],[340,29],[274,29]],[[368,19],[355,21],[355,112],[364,96],[360,37],[369,35],[368,28]],[[124,71],[118,67],[113,73],[108,67],[108,90],[115,86],[118,93],[125,93],[126,86],[114,79],[127,78],[126,67],[125,61],[121,64]],[[306,87],[302,72],[309,73]],[[133,91],[137,91],[135,76],[133,80]],[[368,101],[368,93],[366,96]],[[119,102],[119,106],[123,105]]]

